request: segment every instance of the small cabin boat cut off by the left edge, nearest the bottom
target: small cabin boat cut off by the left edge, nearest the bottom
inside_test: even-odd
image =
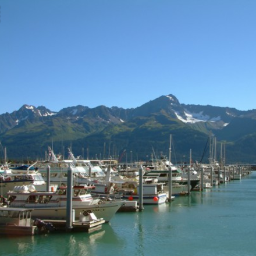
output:
[[[33,209],[0,207],[0,234],[25,236],[35,234],[37,228],[31,220]]]

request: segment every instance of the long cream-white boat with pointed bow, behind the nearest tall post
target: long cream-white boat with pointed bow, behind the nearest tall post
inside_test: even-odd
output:
[[[109,222],[122,206],[122,200],[104,201],[91,196],[91,186],[73,186],[72,209],[74,219],[79,219],[80,213],[93,212],[97,218]],[[33,192],[29,187],[16,187],[8,193],[9,207],[33,208],[33,218],[66,219],[67,187],[60,187],[56,192]]]

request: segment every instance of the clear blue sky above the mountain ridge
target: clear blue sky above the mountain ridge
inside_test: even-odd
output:
[[[0,114],[23,104],[255,109],[255,0],[0,0]]]

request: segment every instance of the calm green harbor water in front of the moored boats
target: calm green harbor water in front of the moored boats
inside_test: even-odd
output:
[[[91,234],[0,240],[0,255],[256,255],[256,173],[171,204],[120,212]]]

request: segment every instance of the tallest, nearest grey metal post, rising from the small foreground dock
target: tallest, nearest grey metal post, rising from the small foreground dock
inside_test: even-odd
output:
[[[67,168],[67,208],[66,208],[66,230],[70,231],[73,229],[72,226],[72,197],[73,197],[73,170],[69,166]]]

